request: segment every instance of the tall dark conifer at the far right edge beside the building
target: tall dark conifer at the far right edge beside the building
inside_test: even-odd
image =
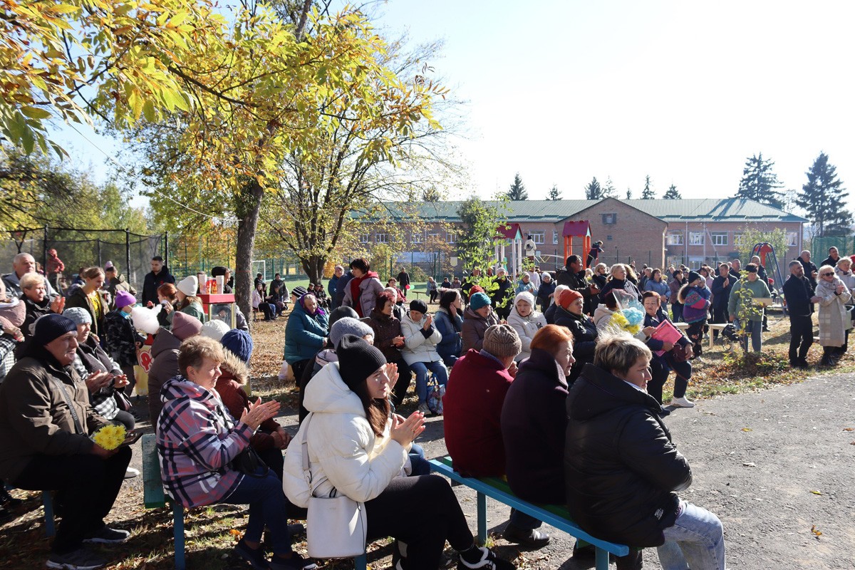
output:
[[[796,205],[807,212],[817,238],[848,234],[852,224],[852,214],[846,209],[849,192],[837,178],[837,167],[829,164],[828,155],[821,152],[805,174],[807,183],[796,197]]]

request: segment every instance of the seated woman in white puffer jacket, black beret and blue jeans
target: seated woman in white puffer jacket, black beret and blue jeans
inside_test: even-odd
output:
[[[433,315],[428,314],[428,304],[421,299],[410,301],[410,314],[401,320],[401,334],[404,336],[404,346],[401,355],[416,373],[416,395],[419,397],[419,411],[430,414],[428,409],[428,370],[433,373],[433,379],[444,386],[448,381],[448,369],[442,361],[442,356],[436,350],[442,335],[433,326]]]

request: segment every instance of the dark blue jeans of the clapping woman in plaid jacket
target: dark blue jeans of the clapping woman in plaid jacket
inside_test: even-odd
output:
[[[260,471],[259,471],[260,473]],[[244,538],[261,542],[262,532],[267,526],[268,546],[274,554],[288,555],[291,552],[291,537],[288,535],[288,508],[282,482],[268,471],[264,477],[244,475],[238,488],[222,499],[231,505],[250,505],[250,520],[246,523]]]

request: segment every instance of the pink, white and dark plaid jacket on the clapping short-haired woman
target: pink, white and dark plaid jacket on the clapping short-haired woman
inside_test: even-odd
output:
[[[250,444],[252,429],[235,422],[219,394],[175,376],[161,389],[157,455],[163,486],[185,508],[220,502],[244,478],[229,463]]]

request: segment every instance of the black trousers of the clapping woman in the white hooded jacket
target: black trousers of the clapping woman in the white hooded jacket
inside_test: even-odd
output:
[[[475,543],[451,485],[439,475],[396,477],[365,509],[369,543],[392,537],[407,544],[405,570],[436,570],[446,540],[458,552]]]

